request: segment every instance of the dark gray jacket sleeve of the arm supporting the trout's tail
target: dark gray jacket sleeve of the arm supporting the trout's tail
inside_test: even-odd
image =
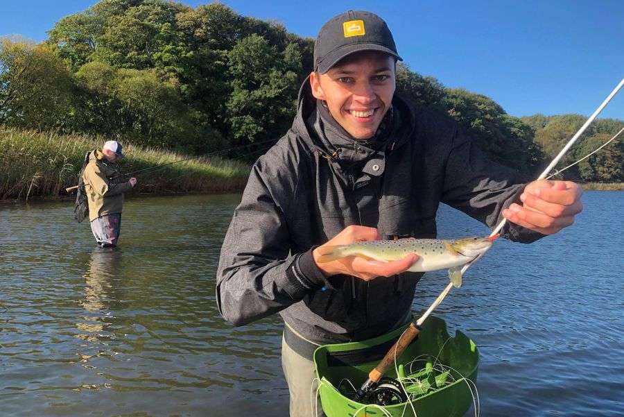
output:
[[[216,300],[229,323],[244,325],[279,312],[327,281],[310,267],[311,250],[291,253],[282,210],[256,164],[234,210],[217,270]]]

